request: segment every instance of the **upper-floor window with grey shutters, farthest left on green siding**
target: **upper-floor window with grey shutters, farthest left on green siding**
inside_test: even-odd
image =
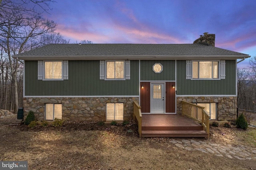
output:
[[[68,61],[38,61],[38,80],[68,80]]]

